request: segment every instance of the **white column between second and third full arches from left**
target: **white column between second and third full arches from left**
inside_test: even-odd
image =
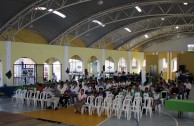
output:
[[[69,48],[64,46],[64,81],[69,80],[69,74],[66,73],[67,68],[69,69]],[[69,69],[70,70],[70,69]]]

